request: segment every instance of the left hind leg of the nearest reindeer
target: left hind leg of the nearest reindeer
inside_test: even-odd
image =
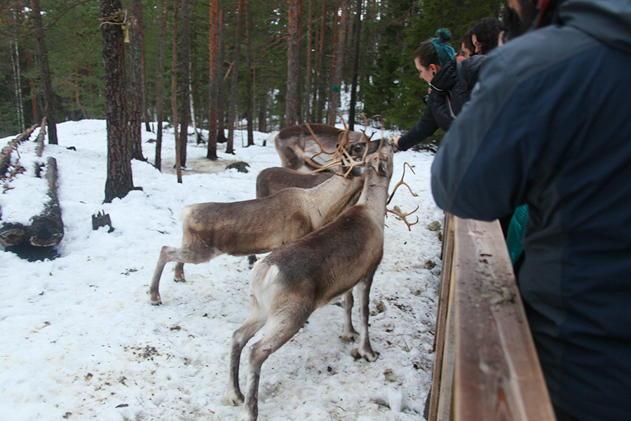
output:
[[[232,347],[230,353],[230,377],[228,380],[228,389],[222,398],[224,405],[238,406],[243,403],[243,394],[239,388],[239,364],[241,359],[241,351],[265,324],[266,314],[262,314],[259,308],[257,298],[252,297],[252,305],[250,305],[250,313],[240,328],[234,331],[232,335]]]

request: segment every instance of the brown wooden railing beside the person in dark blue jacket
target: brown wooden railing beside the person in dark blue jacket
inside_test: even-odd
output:
[[[553,421],[498,221],[446,215],[428,421]]]

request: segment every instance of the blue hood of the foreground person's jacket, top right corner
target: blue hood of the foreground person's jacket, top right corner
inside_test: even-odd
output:
[[[566,0],[559,6],[558,17],[562,25],[631,53],[631,0]]]

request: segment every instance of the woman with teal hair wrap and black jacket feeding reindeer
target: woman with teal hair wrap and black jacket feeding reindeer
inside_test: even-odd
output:
[[[456,62],[456,51],[447,44],[452,39],[449,29],[438,29],[435,38],[423,41],[414,52],[414,65],[419,77],[429,83],[431,92],[421,119],[392,143],[402,150],[423,142],[438,128],[449,130],[453,119],[462,109],[473,89],[484,55]]]

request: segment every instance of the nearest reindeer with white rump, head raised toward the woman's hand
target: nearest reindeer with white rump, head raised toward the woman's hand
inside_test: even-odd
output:
[[[368,337],[368,302],[374,272],[384,250],[384,215],[392,159],[393,150],[384,142],[378,152],[368,156],[365,182],[354,206],[324,227],[276,248],[252,269],[252,303],[245,322],[232,336],[224,403],[244,403],[239,388],[240,355],[247,341],[266,323],[269,326],[262,340],[250,348],[240,421],[257,419],[259,377],[264,361],[298,332],[315,309],[339,295],[345,295],[346,302],[342,338],[359,336],[360,356],[367,361],[377,358]],[[359,334],[351,322],[354,287],[360,299]]]

